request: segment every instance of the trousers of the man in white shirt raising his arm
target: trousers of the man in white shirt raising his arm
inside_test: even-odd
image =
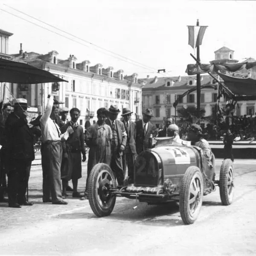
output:
[[[62,200],[61,196],[61,159],[62,145],[60,141],[41,145],[43,169],[43,201],[52,203]]]

